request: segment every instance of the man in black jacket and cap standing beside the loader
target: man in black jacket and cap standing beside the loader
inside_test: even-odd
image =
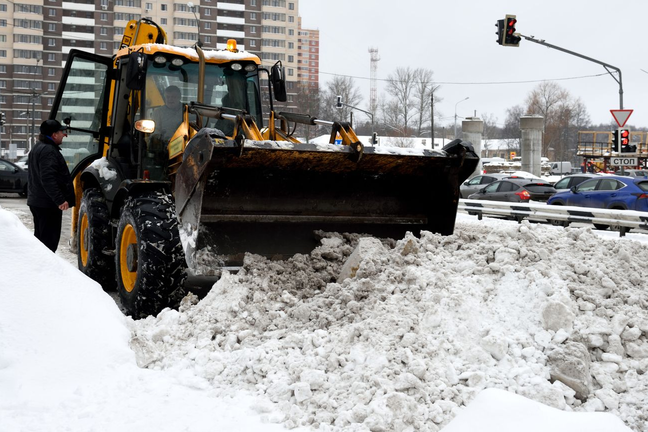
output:
[[[34,216],[34,236],[56,252],[63,210],[74,207],[75,188],[60,149],[67,137],[65,126],[58,120],[45,120],[40,130],[27,163],[27,205]]]

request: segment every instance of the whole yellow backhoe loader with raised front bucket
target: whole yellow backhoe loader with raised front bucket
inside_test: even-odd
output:
[[[68,126],[72,243],[81,271],[116,286],[128,313],[169,306],[187,271],[309,253],[318,230],[453,232],[459,185],[479,160],[470,143],[365,147],[349,124],[275,112],[273,100],[286,100],[280,62],[265,69],[233,40],[167,45],[148,19],[128,23],[112,58],[69,53],[50,118]],[[297,141],[296,123],[330,128],[330,144]]]

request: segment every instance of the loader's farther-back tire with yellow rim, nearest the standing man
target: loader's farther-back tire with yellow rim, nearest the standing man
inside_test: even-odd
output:
[[[115,259],[112,256],[110,215],[106,199],[99,189],[84,191],[76,229],[78,268],[99,282],[104,291],[114,291]]]

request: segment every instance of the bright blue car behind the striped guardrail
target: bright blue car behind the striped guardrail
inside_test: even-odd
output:
[[[601,176],[549,198],[548,205],[648,212],[648,177]],[[597,229],[608,225],[594,224]]]

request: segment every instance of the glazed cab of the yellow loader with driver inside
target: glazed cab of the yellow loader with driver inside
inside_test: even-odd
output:
[[[233,134],[230,120],[200,119],[187,112],[192,101],[198,101],[198,62],[178,52],[154,52],[134,59],[130,53],[119,59],[113,106],[111,155],[131,166],[137,166],[137,177],[148,172],[152,180],[167,180],[170,157],[182,150],[182,142],[191,136],[189,124],[215,128],[226,136]],[[138,80],[132,80],[133,67],[145,69]],[[131,82],[129,82],[132,80]],[[254,62],[205,63],[203,103],[226,108],[236,114],[245,111],[261,124],[259,74]],[[135,129],[137,120],[153,120],[150,131]],[[184,141],[186,142],[186,141]],[[140,163],[141,162],[141,163]]]

